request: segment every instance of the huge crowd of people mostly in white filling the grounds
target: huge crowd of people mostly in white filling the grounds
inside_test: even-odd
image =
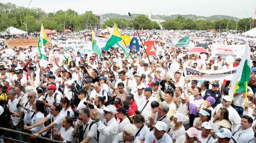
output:
[[[135,32],[123,30],[121,34]],[[89,41],[90,34],[48,36]],[[207,52],[194,53],[186,47],[167,47],[164,38],[157,36],[160,34],[175,38],[223,36],[223,40],[203,42],[209,45]],[[205,71],[239,66],[242,57],[233,65],[221,56],[214,60],[211,44],[245,43],[229,41],[227,33],[209,31],[149,30],[140,36],[142,41],[154,41],[155,58],[147,57],[141,42],[139,51],[130,51],[129,58],[118,46],[101,51],[100,56],[93,53],[88,57],[73,49],[62,52],[65,47],[56,44],[45,47],[48,63],[42,66],[40,55],[33,52],[32,46],[15,47],[15,56],[10,56],[5,53],[8,45],[2,41],[0,125],[31,136],[6,131],[0,131],[0,136],[27,142],[36,142],[41,136],[69,143],[256,142],[256,61],[250,61],[247,99],[243,92],[229,95],[230,81],[187,80],[183,73],[185,65]],[[256,41],[249,43],[252,58],[255,44]],[[50,51],[71,54],[72,60],[57,62],[55,58],[51,62]],[[22,52],[26,55],[24,60],[19,57]],[[206,60],[202,54],[207,55]],[[175,62],[180,68],[173,72],[171,65]]]

